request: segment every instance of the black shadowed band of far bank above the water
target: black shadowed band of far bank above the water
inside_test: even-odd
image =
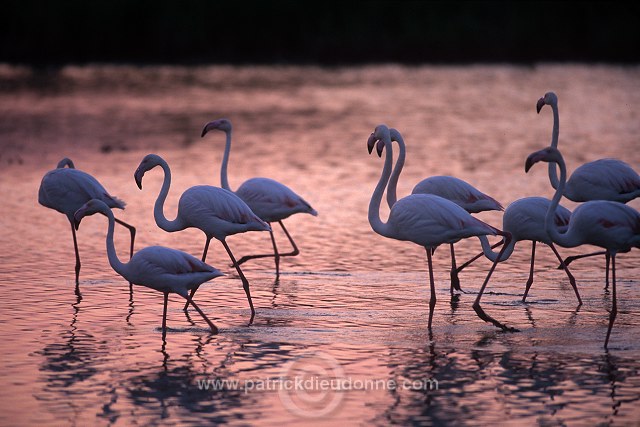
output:
[[[636,63],[615,1],[5,0],[0,61]]]

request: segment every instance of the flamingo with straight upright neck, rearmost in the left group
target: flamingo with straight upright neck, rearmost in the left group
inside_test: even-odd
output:
[[[231,190],[229,180],[227,178],[227,165],[229,163],[229,153],[231,151],[231,122],[228,119],[218,119],[207,123],[202,129],[201,137],[204,137],[210,130],[220,130],[226,134],[226,143],[224,147],[224,156],[222,158],[222,167],[220,169],[220,179],[222,188]],[[280,258],[285,256],[296,256],[300,253],[293,238],[287,231],[282,222],[296,213],[307,213],[317,216],[318,212],[311,207],[302,197],[293,192],[289,187],[270,178],[251,178],[245,181],[235,192],[247,205],[268,224],[277,222],[280,224],[282,231],[289,239],[292,251],[288,253],[278,252],[276,240],[273,231],[269,230],[271,236],[271,244],[273,245],[272,254],[245,255],[238,261],[242,264],[245,261],[255,258],[274,257],[276,264],[276,276],[280,275]]]

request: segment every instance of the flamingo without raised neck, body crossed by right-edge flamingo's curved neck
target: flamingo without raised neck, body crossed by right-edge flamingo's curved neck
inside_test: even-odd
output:
[[[571,283],[576,297],[578,298],[578,304],[582,305],[582,299],[580,298],[580,293],[576,287],[576,280],[573,277],[573,274],[571,274],[571,271],[569,271],[569,267],[564,264],[562,257],[560,257],[558,250],[544,228],[545,217],[550,204],[551,200],[545,197],[524,197],[507,206],[507,209],[504,211],[504,216],[502,217],[502,229],[511,233],[512,240],[511,244],[505,249],[504,255],[500,258],[499,262],[506,261],[511,257],[517,242],[522,240],[531,240],[531,267],[529,268],[529,279],[527,280],[524,295],[522,296],[522,301],[524,302],[527,299],[529,289],[533,283],[536,242],[542,242],[548,245],[556,258],[558,258],[558,261],[560,261],[560,265],[564,267],[563,269],[567,273],[569,283]],[[559,205],[553,219],[555,224],[561,230],[566,230],[570,219],[571,211]],[[458,268],[458,272],[462,271],[465,267],[469,266],[473,261],[481,256],[482,253],[462,264]],[[495,261],[496,257],[494,257],[493,254],[489,254],[489,259],[491,261]]]

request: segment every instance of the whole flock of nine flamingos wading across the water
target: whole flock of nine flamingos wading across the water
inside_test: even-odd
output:
[[[424,248],[426,253],[429,286],[429,313],[427,328],[433,327],[436,306],[436,291],[433,272],[433,256],[441,245],[450,247],[451,270],[450,292],[461,291],[459,273],[483,255],[491,261],[484,282],[478,290],[473,308],[480,319],[503,331],[515,332],[487,314],[481,306],[481,298],[490,282],[498,263],[507,261],[514,252],[518,241],[531,241],[531,261],[529,278],[525,284],[522,301],[525,302],[533,283],[536,243],[549,246],[560,263],[575,292],[578,304],[582,299],[576,279],[568,265],[579,258],[595,254],[606,256],[606,286],[609,284],[609,269],[612,283],[612,308],[604,340],[609,345],[611,331],[617,315],[616,255],[640,248],[640,213],[626,205],[640,196],[640,177],[623,161],[600,159],[578,167],[570,178],[564,158],[558,149],[559,113],[558,97],[553,92],[541,97],[536,110],[540,113],[544,105],[553,112],[551,145],[531,153],[525,162],[525,172],[539,162],[548,163],[548,176],[555,194],[551,200],[543,197],[525,197],[503,208],[496,199],[476,189],[473,185],[453,176],[430,176],[417,183],[412,194],[398,199],[397,184],[407,155],[407,147],[401,133],[385,124],[379,124],[369,135],[367,149],[379,157],[384,153],[384,163],[378,183],[369,202],[368,220],[372,230],[382,237],[407,241]],[[199,287],[223,273],[207,264],[206,257],[211,239],[218,240],[226,250],[242,282],[251,310],[249,324],[256,315],[251,298],[249,281],[241,269],[241,264],[256,258],[273,258],[276,278],[280,275],[280,263],[284,257],[300,254],[298,246],[283,221],[291,215],[306,213],[317,216],[318,212],[307,201],[284,184],[270,178],[251,178],[234,192],[229,185],[227,169],[231,151],[232,125],[228,119],[217,119],[205,124],[201,137],[212,130],[225,134],[225,147],[220,168],[221,186],[196,185],[184,191],[178,202],[175,219],[169,220],[164,214],[164,204],[171,186],[171,170],[167,162],[156,154],[146,155],[134,173],[134,180],[142,190],[144,175],[159,166],[164,179],[153,208],[156,225],[167,232],[177,232],[187,228],[201,230],[205,244],[200,259],[180,250],[162,246],[150,246],[134,252],[135,227],[117,219],[112,209],[124,209],[125,203],[111,196],[91,175],[75,169],[70,159],[61,160],[56,169],[47,172],[41,182],[38,201],[45,207],[57,210],[67,216],[71,225],[75,250],[76,291],[79,291],[80,255],[76,231],[86,216],[100,213],[107,217],[106,252],[113,270],[130,284],[141,285],[163,293],[162,317],[163,340],[166,336],[167,305],[170,293],[184,298],[186,311],[191,305],[207,323],[212,334],[218,328],[205,312],[196,304],[194,296]],[[394,164],[393,143],[399,147]],[[560,170],[558,177],[557,169]],[[381,218],[380,209],[383,194],[389,214],[386,221]],[[581,203],[573,212],[560,205],[561,199]],[[502,228],[494,227],[472,214],[483,211],[504,211]],[[129,261],[122,262],[116,254],[114,229],[118,223],[130,232]],[[276,244],[272,225],[278,223],[291,246],[289,252],[282,252]],[[227,237],[249,231],[268,231],[273,251],[264,254],[249,254],[239,259],[233,254]],[[491,245],[489,236],[496,236],[499,242]],[[457,267],[454,244],[471,237],[480,241],[482,252]],[[593,245],[601,251],[563,259],[557,247],[574,248]],[[502,246],[496,251],[498,246]],[[457,298],[459,295],[455,295]]]

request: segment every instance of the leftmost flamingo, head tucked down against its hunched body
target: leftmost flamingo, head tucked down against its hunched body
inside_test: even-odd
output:
[[[68,168],[65,168],[65,166]],[[73,249],[76,254],[76,285],[79,284],[80,279],[80,253],[78,251],[76,229],[73,225],[73,215],[91,199],[102,200],[110,208],[124,209],[125,207],[125,202],[111,196],[93,176],[75,169],[73,161],[66,157],[58,162],[56,169],[50,170],[44,175],[38,190],[38,202],[42,206],[65,214],[69,220],[71,235],[73,236]],[[129,255],[132,256],[136,229],[117,218],[114,218],[114,220],[129,230],[131,234]]]

